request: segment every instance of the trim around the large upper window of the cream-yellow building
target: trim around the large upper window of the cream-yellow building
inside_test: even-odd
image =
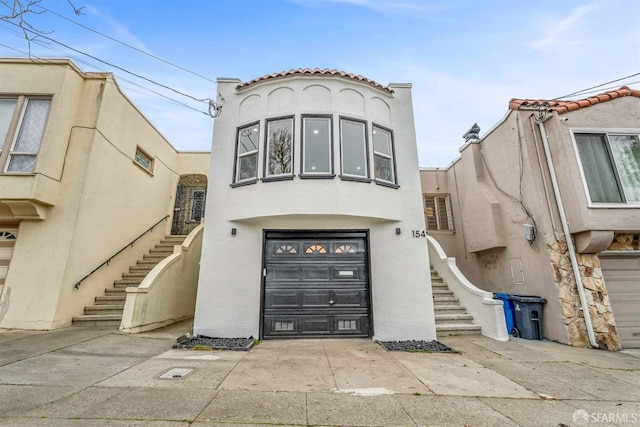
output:
[[[0,99],[9,99],[15,100],[16,105],[13,110],[13,116],[11,121],[9,122],[9,127],[7,129],[7,135],[4,140],[0,140],[0,174],[1,175],[35,175],[35,171],[38,166],[38,159],[40,157],[40,149],[42,148],[42,143],[46,139],[46,132],[49,126],[49,118],[51,117],[51,108],[53,106],[53,96],[52,95],[29,95],[29,94],[20,94],[20,95],[9,95],[2,94],[0,95]],[[49,109],[47,111],[47,119],[45,120],[42,138],[40,139],[40,144],[38,145],[38,151],[33,152],[19,152],[14,151],[14,147],[18,141],[18,137],[20,135],[20,130],[22,128],[22,124],[24,122],[24,117],[27,112],[27,106],[29,104],[29,100],[45,100],[49,101]],[[33,164],[33,170],[31,172],[21,172],[21,171],[9,171],[9,163],[11,161],[11,156],[13,155],[29,155],[35,157],[35,162]]]

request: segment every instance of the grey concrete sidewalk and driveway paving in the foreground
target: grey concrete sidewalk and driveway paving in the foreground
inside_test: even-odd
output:
[[[171,350],[190,329],[0,331],[0,426],[640,425],[637,352],[484,337],[440,340],[461,354],[366,339]],[[192,371],[160,378],[174,368]]]

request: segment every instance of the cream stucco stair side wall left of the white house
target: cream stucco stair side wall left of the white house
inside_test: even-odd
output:
[[[193,317],[204,224],[158,263],[138,287],[127,288],[120,331],[150,331]]]

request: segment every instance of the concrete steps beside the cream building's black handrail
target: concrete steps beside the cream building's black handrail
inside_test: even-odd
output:
[[[125,289],[135,287],[160,261],[173,253],[173,247],[181,244],[187,236],[165,236],[155,248],[129,267],[122,279],[115,280],[112,288],[104,290],[104,296],[96,297],[95,304],[84,308],[84,314],[74,316],[73,324],[80,326],[115,326],[122,322],[124,302],[127,298]]]

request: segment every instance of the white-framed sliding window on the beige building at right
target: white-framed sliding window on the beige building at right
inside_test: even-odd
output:
[[[575,132],[593,203],[640,202],[640,136],[625,132]]]

